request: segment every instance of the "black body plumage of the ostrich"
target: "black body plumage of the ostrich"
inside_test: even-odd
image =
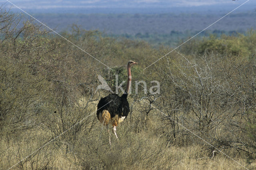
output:
[[[130,112],[127,96],[128,94],[123,94],[121,97],[117,94],[110,94],[104,98],[101,98],[97,106],[98,119],[99,113],[103,110],[107,110],[110,113],[111,118],[116,115],[119,117],[127,117],[128,113]]]

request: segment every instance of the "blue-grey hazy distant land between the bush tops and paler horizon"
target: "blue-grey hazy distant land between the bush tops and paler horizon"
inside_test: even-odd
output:
[[[57,28],[69,29],[77,24],[86,30],[107,34],[170,34],[203,30],[225,13],[217,14],[34,14],[38,20]],[[226,16],[208,30],[243,32],[256,29],[256,12],[234,13]]]

